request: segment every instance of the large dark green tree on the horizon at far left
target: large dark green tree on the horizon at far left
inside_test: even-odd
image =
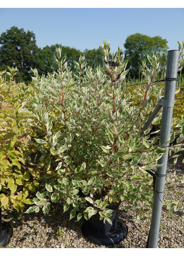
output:
[[[24,31],[23,28],[11,27],[3,32],[0,37],[0,69],[17,66],[17,82],[31,81],[31,68],[36,67],[36,58],[41,49],[36,45],[35,35],[32,31]]]

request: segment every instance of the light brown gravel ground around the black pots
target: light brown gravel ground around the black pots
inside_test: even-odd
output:
[[[177,176],[184,174],[184,168],[181,165],[182,158],[183,156],[176,165],[168,163],[168,176],[174,176],[174,171]],[[176,188],[176,191],[181,192],[181,190],[183,191],[183,188]],[[181,195],[172,191],[164,193],[164,201],[171,198],[183,200],[183,193]],[[128,235],[114,246],[97,246],[87,241],[81,232],[83,219],[78,222],[75,219],[69,220],[69,213],[63,214],[62,204],[52,206],[47,215],[42,212],[23,214],[20,219],[17,219],[16,216],[6,218],[7,214],[14,212],[14,209],[9,209],[6,213],[2,213],[3,222],[7,222],[13,227],[13,237],[7,244],[7,248],[145,248],[151,225],[150,219],[138,222],[124,208],[125,205],[121,203],[119,218],[127,225]],[[172,219],[163,206],[162,224],[166,228],[160,231],[158,248],[184,248],[184,206],[180,207],[176,214],[177,219]]]

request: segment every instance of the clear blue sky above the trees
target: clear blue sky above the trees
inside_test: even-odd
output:
[[[110,40],[111,52],[116,52],[118,46],[124,47],[126,38],[137,32],[167,39],[169,50],[178,49],[177,40],[184,41],[184,4],[175,4],[177,8],[174,8],[169,4],[143,5],[144,1],[137,1],[139,6],[146,7],[138,8],[136,1],[134,5],[119,5],[114,0],[111,1],[113,5],[105,1],[103,6],[110,7],[101,8],[102,5],[94,0],[92,3],[95,5],[81,2],[78,4],[80,8],[76,8],[75,3],[80,1],[69,1],[65,5],[59,5],[55,0],[49,1],[52,5],[47,5],[47,1],[37,1],[39,4],[33,0],[31,2],[33,4],[21,1],[0,4],[0,35],[10,27],[17,26],[25,31],[33,31],[38,47],[60,43],[81,51],[97,49],[105,39]]]

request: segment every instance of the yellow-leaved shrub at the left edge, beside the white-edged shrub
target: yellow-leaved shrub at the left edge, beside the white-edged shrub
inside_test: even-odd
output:
[[[14,72],[11,73],[10,83],[6,83],[2,77],[0,81],[0,202],[3,210],[13,205],[15,209],[23,212],[24,204],[33,204],[28,195],[39,185],[40,173],[27,168],[31,151],[34,150],[29,144],[31,137],[34,137],[34,131],[29,124],[32,116],[23,108],[27,102],[19,102],[16,93],[13,93],[17,92],[17,87],[21,92],[21,87],[24,99],[29,90],[24,84],[17,85],[12,79]],[[17,93],[17,97],[20,94]]]

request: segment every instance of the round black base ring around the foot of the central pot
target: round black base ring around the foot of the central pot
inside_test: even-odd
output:
[[[90,242],[94,244],[112,245],[125,239],[127,236],[127,226],[121,219],[117,220],[117,226],[111,235],[103,235],[90,229],[88,221],[82,225],[82,234]]]

